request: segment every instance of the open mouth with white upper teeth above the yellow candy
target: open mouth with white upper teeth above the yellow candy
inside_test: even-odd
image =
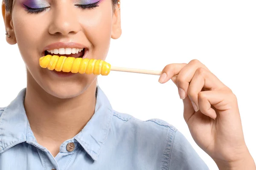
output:
[[[57,55],[74,58],[85,58],[88,53],[88,48],[55,48],[44,51],[44,55]]]

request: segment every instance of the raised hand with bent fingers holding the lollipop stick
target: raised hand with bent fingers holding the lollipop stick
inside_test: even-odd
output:
[[[159,82],[170,79],[183,99],[183,116],[193,139],[218,167],[239,168],[250,159],[250,167],[256,169],[244,142],[237,99],[230,88],[198,60],[167,65]]]

